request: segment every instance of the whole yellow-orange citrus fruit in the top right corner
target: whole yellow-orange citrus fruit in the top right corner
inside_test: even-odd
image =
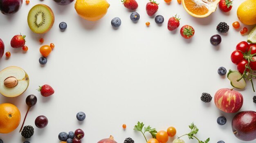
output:
[[[247,0],[240,4],[236,14],[243,24],[256,24],[256,0]]]

